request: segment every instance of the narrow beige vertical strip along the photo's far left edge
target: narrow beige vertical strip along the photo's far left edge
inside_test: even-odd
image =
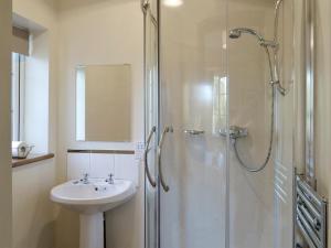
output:
[[[0,1],[0,247],[11,247],[10,67],[11,1]]]

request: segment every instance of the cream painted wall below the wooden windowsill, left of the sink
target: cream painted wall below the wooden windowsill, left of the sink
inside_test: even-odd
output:
[[[13,169],[13,248],[54,247],[53,160]]]

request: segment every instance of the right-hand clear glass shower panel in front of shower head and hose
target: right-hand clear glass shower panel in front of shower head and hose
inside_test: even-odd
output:
[[[275,2],[229,1],[229,30],[248,28],[265,40],[274,41]],[[281,65],[278,77],[287,89],[291,89],[292,35],[289,29],[292,14],[290,1],[284,2],[276,40]],[[275,50],[269,51],[273,61]],[[274,71],[274,63],[271,67]],[[236,141],[237,154],[233,143],[229,147],[229,247],[291,247],[293,93],[290,90],[284,97],[275,87],[273,98],[268,56],[252,33],[228,40],[228,77],[229,125],[248,130],[247,137]],[[260,172],[248,172],[238,157],[249,168],[257,169],[264,164],[270,142],[273,112],[271,159]]]

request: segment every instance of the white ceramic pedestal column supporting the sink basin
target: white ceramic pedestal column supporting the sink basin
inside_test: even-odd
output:
[[[104,213],[81,214],[79,248],[104,248]]]

